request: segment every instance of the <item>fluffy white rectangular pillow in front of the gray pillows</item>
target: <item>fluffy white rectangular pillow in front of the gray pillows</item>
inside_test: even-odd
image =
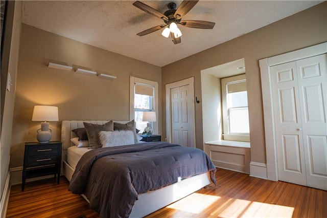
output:
[[[100,131],[99,140],[102,147],[113,147],[119,145],[130,145],[134,143],[134,133],[127,131]]]

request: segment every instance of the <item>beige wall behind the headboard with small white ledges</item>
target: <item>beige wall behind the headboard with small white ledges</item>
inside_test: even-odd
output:
[[[50,60],[117,79],[48,68]],[[40,122],[31,121],[34,105],[58,106],[60,121],[129,120],[130,76],[158,82],[160,123],[160,67],[22,24],[10,167],[22,166],[24,142],[36,141]],[[50,122],[52,140],[60,140],[60,121]]]

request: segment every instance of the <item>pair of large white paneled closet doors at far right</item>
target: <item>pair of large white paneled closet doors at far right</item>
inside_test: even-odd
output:
[[[326,60],[270,68],[279,180],[327,190]]]

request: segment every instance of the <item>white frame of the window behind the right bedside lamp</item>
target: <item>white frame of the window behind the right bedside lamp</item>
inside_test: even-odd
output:
[[[134,108],[134,89],[135,89],[135,84],[141,84],[145,86],[151,86],[154,88],[154,95],[153,95],[153,109],[148,110],[148,109],[142,109],[138,108],[137,111],[154,111],[156,112],[156,122],[152,122],[152,129],[153,129],[153,134],[158,134],[158,114],[159,114],[159,103],[158,103],[158,82],[156,81],[151,81],[147,79],[141,79],[137,77],[130,76],[130,88],[129,88],[129,119],[133,120],[135,119],[135,108]],[[143,129],[139,129],[140,133],[143,132]]]

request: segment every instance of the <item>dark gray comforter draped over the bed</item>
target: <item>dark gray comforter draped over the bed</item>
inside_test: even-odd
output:
[[[197,148],[167,142],[98,148],[78,162],[68,190],[84,193],[101,217],[128,217],[137,194],[216,168]]]

